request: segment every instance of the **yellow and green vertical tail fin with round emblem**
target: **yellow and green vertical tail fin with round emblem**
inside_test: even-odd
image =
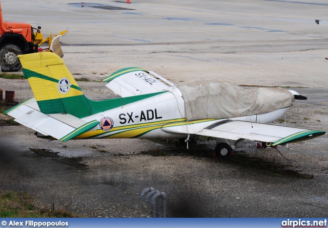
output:
[[[68,113],[78,118],[91,115],[88,99],[59,56],[38,52],[18,57],[40,111]]]

